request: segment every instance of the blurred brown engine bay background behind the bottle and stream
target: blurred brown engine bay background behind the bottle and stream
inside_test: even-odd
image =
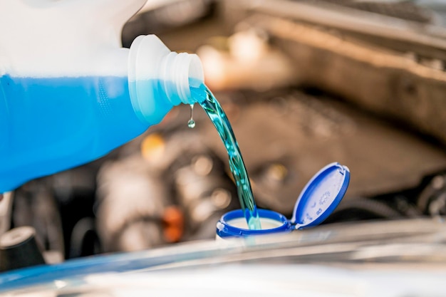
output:
[[[288,217],[321,167],[351,170],[323,224],[446,213],[446,4],[392,0],[149,0],[123,46],[154,33],[197,53],[256,204]],[[133,142],[0,202],[0,235],[31,226],[47,263],[214,239],[240,207],[227,153],[196,106]]]

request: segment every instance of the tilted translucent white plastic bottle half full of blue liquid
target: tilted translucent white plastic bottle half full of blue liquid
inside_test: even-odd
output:
[[[194,103],[196,55],[153,35],[121,48],[144,3],[0,0],[0,193],[95,160]]]

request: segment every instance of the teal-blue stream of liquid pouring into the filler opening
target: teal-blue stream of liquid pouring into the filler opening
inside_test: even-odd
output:
[[[222,106],[204,84],[201,84],[199,88],[192,88],[192,97],[197,99],[199,105],[207,113],[217,129],[224,147],[226,147],[229,157],[229,168],[237,186],[237,194],[239,195],[239,201],[249,229],[261,229],[256,202],[254,201],[254,195],[252,194],[251,183],[249,182],[247,169],[244,166],[242,153],[240,152],[231,124]]]

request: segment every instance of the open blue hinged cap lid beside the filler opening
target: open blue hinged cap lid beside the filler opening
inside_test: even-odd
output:
[[[295,229],[323,222],[341,202],[350,182],[350,170],[333,162],[323,167],[306,184],[294,206],[291,224]]]

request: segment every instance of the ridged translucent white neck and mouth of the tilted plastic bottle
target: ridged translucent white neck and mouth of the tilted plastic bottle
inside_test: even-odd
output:
[[[128,53],[128,82],[133,109],[149,123],[170,105],[197,102],[192,87],[204,81],[202,63],[190,53],[169,50],[155,35],[138,36]]]

